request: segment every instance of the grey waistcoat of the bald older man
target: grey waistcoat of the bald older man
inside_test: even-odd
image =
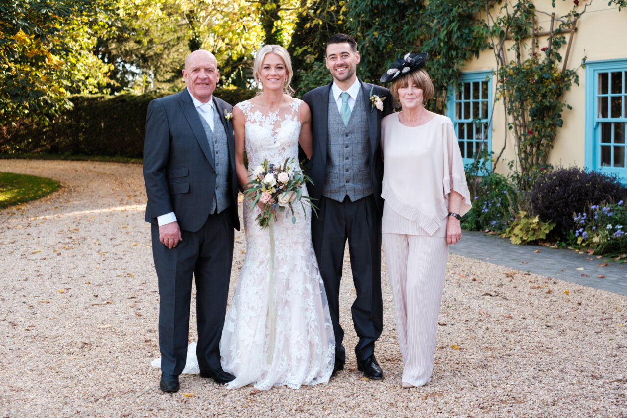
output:
[[[231,204],[229,193],[231,193],[231,181],[229,181],[229,153],[226,144],[226,132],[224,125],[218,115],[218,110],[213,109],[213,132],[204,117],[200,118],[203,122],[204,132],[207,134],[209,142],[209,151],[213,155],[213,163],[216,168],[216,191],[213,200],[213,207],[209,213],[222,212]]]

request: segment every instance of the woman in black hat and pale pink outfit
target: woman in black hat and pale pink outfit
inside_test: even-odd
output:
[[[381,121],[385,199],[382,241],[405,363],[401,385],[418,387],[433,372],[448,244],[461,239],[470,194],[451,120],[424,108],[433,83],[426,53],[398,59],[381,77],[402,111]]]

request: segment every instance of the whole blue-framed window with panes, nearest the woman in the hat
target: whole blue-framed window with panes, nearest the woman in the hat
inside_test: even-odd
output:
[[[450,89],[446,115],[453,121],[464,164],[492,150],[492,71],[461,73],[459,88]],[[489,167],[489,164],[488,164]]]

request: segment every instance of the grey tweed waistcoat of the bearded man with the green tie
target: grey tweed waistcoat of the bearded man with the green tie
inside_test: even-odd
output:
[[[347,126],[332,94],[329,94],[327,125],[327,169],[322,195],[343,201],[356,201],[372,194],[370,180],[370,145],[366,105],[361,89],[350,113]]]

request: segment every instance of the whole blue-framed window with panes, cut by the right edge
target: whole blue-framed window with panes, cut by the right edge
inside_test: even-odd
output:
[[[627,183],[627,60],[586,63],[586,168]]]

